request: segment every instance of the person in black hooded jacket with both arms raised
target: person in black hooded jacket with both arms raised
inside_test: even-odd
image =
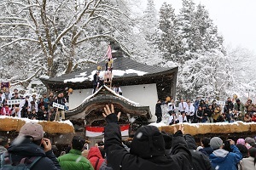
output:
[[[172,156],[165,155],[165,142],[162,133],[154,126],[144,126],[137,129],[131,142],[130,153],[125,150],[121,133],[119,131],[118,116],[114,114],[113,105],[111,110],[108,105],[104,107],[108,124],[104,130],[107,162],[113,169],[122,170],[170,170],[191,169],[191,154],[185,139],[183,138],[183,127],[173,135]]]

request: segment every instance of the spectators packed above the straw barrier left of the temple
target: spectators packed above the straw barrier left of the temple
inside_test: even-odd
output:
[[[21,96],[17,88],[14,89],[13,93],[9,92],[9,88],[3,88],[0,91],[0,116],[18,116],[42,121],[64,121],[64,111],[67,110],[66,103],[68,102],[68,95],[64,96],[64,94],[68,94],[68,91],[61,91],[56,94],[53,92],[44,93],[38,99],[37,94]],[[10,104],[9,101],[15,103]],[[55,107],[54,103],[63,105],[64,109]]]

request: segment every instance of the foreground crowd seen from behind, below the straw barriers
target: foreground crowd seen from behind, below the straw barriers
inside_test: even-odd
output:
[[[70,150],[56,156],[44,129],[37,122],[26,122],[17,138],[9,143],[0,137],[0,169],[63,170],[253,170],[256,169],[255,139],[212,139],[203,137],[197,145],[193,136],[184,134],[183,125],[174,133],[160,132],[157,127],[139,127],[129,143],[122,141],[119,117],[113,105],[103,108],[107,125],[104,143],[90,148],[82,136],[74,136]],[[125,145],[126,144],[126,145]]]

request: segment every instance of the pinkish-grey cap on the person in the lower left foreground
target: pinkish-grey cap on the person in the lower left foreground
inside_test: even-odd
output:
[[[37,122],[26,122],[20,128],[19,136],[31,136],[34,140],[39,140],[44,138],[44,130]]]

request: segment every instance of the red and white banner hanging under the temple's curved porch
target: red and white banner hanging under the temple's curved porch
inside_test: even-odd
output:
[[[129,135],[129,125],[120,125],[122,136]],[[97,137],[103,135],[104,127],[85,127],[87,137]]]

